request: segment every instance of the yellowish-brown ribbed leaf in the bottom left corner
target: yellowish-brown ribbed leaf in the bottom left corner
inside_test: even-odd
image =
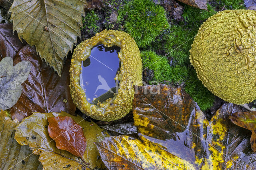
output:
[[[0,169],[27,170],[37,169],[40,162],[37,155],[30,155],[27,146],[20,146],[14,139],[14,128],[18,120],[11,120],[0,110]],[[30,155],[30,156],[29,156]]]

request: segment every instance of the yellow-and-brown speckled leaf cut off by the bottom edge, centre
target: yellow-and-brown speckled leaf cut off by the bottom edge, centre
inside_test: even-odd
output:
[[[129,136],[107,137],[95,143],[108,169],[195,169],[193,164],[170,154],[157,143]]]

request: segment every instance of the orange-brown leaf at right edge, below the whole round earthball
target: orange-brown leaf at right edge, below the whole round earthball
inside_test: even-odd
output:
[[[252,131],[251,148],[256,152],[256,111],[236,112],[229,116],[236,125]]]

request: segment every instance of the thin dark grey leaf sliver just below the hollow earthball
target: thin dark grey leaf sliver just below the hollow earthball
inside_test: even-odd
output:
[[[103,129],[106,129],[108,131],[120,133],[122,135],[130,135],[133,133],[138,133],[137,127],[132,125],[133,123],[123,123],[123,124],[117,124],[113,126],[104,126]]]

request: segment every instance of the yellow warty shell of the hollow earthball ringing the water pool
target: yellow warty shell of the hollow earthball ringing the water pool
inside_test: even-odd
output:
[[[103,44],[105,47],[114,45],[120,47],[118,53],[120,70],[115,77],[115,80],[119,81],[119,88],[118,93],[112,98],[92,104],[88,102],[86,91],[80,86],[80,74],[82,61],[90,57],[91,49],[98,44]],[[142,85],[142,60],[138,46],[129,34],[104,30],[96,33],[91,39],[83,41],[74,49],[70,66],[70,91],[72,100],[84,114],[101,121],[113,121],[124,117],[132,109],[134,85]]]

